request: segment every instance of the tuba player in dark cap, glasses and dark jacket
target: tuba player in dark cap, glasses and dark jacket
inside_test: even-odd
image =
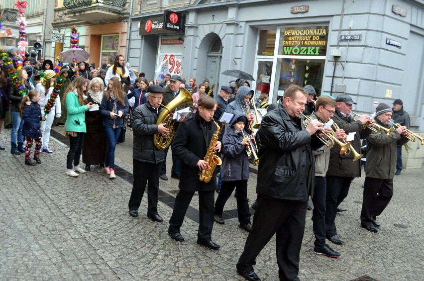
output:
[[[134,145],[132,152],[134,182],[129,198],[129,215],[138,216],[138,208],[147,186],[147,216],[157,222],[163,221],[158,214],[159,173],[164,161],[164,151],[158,150],[153,143],[156,133],[167,135],[169,129],[165,124],[156,124],[159,113],[163,110],[160,102],[165,91],[158,85],[147,87],[147,102],[138,106],[132,113],[132,131]]]

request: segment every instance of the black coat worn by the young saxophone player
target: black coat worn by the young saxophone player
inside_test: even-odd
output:
[[[206,126],[206,128],[204,127]],[[206,122],[199,111],[178,126],[172,143],[172,154],[181,160],[179,188],[185,191],[212,191],[216,187],[216,169],[209,183],[199,180],[197,163],[204,159],[216,131],[215,125]]]

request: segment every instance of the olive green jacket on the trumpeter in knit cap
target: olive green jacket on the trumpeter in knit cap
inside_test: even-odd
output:
[[[375,118],[375,122],[385,128],[390,128],[389,125],[384,125],[377,118]],[[399,135],[396,130],[389,136],[382,130],[378,133],[371,133],[367,137],[366,177],[384,180],[393,179],[398,157],[396,144],[404,145],[407,142],[408,139]]]

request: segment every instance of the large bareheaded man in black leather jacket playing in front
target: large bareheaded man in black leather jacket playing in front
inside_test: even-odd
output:
[[[299,118],[307,95],[303,88],[290,85],[278,109],[263,117],[258,131],[258,200],[252,231],[236,265],[249,281],[260,280],[253,265],[275,233],[280,280],[299,280],[307,201],[314,189],[313,149],[323,145],[315,136],[323,123],[312,120],[305,128]]]

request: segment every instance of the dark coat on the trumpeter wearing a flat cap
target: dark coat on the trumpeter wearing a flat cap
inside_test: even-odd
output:
[[[363,128],[361,121],[355,121],[351,116],[344,117],[343,114],[336,108],[334,116],[332,118],[340,129],[343,129],[345,134],[356,132],[354,139],[349,141],[353,149],[361,154],[361,139],[367,138],[371,130],[369,128]],[[368,169],[368,162],[367,162]],[[336,177],[360,177],[361,167],[360,161],[353,161],[353,153],[349,155],[340,155],[340,147],[334,145],[330,152],[330,162],[328,165],[328,171],[326,176]]]

